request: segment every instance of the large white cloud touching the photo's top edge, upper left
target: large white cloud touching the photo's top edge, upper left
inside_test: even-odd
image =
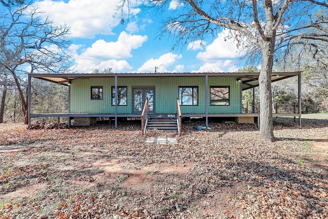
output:
[[[116,6],[120,0],[70,0],[64,1],[44,0],[36,2],[45,16],[51,17],[56,23],[67,24],[71,27],[71,37],[93,38],[96,34],[113,34],[112,29],[120,23],[120,12]],[[140,9],[132,9],[136,14]],[[113,15],[117,13],[115,18]]]

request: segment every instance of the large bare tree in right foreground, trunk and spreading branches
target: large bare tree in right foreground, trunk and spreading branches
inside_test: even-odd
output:
[[[130,3],[130,0],[121,1],[118,9],[122,9],[126,2]],[[170,3],[171,0],[144,0],[146,6],[163,10]],[[236,38],[253,62],[259,61],[260,137],[274,141],[271,74],[275,52],[292,51],[294,45],[316,48],[317,42],[327,41],[326,16],[318,18],[313,15],[318,10],[326,11],[327,2],[175,0],[175,3],[177,8],[164,22],[160,33],[175,36],[174,47],[187,45],[209,34],[215,35],[226,28],[230,30],[228,37]]]

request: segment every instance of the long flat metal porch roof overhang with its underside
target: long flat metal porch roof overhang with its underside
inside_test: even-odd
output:
[[[271,75],[271,82],[277,82],[285,78],[300,75],[301,72],[273,72]],[[94,77],[236,77],[242,83],[242,90],[258,87],[259,72],[212,72],[212,73],[110,73],[110,74],[93,74],[93,73],[78,73],[78,74],[29,74],[33,78],[42,79],[44,81],[69,85],[74,79],[78,78],[94,78]]]

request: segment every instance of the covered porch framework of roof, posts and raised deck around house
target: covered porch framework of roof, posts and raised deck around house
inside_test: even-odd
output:
[[[240,102],[242,101],[241,93],[243,90],[252,89],[253,91],[253,106],[255,105],[255,89],[259,86],[258,72],[242,72],[242,73],[114,73],[114,74],[28,74],[28,117],[29,123],[31,122],[31,118],[35,117],[65,117],[68,121],[68,128],[71,127],[71,120],[72,118],[76,117],[85,117],[85,118],[97,118],[97,117],[109,117],[112,118],[115,122],[115,128],[117,128],[117,121],[120,118],[141,118],[140,113],[120,113],[118,110],[117,101],[114,104],[115,111],[113,113],[76,113],[71,112],[70,109],[70,102],[71,102],[71,92],[70,92],[70,85],[75,79],[80,78],[107,78],[111,77],[114,78],[114,89],[117,91],[118,89],[118,78],[126,78],[126,77],[199,77],[203,78],[203,87],[204,87],[204,110],[199,113],[190,113],[190,112],[183,112],[181,110],[181,117],[203,117],[206,121],[206,126],[208,126],[209,118],[211,117],[232,117],[237,118],[237,120],[250,120],[250,118],[255,119],[257,123],[260,120],[259,112],[256,112],[254,107],[252,108],[251,112],[242,112],[242,106],[240,105],[240,110],[237,110],[235,113],[213,113],[213,111],[209,111],[210,107],[210,85],[209,85],[209,78],[211,77],[233,77],[236,78],[236,83],[239,83],[240,86]],[[298,125],[301,125],[301,72],[275,72],[272,74],[271,81],[277,82],[286,78],[297,76],[298,79],[298,103],[296,106],[296,111],[293,113],[273,113],[275,117],[297,117],[298,118]],[[47,112],[33,112],[31,106],[31,86],[32,85],[32,78],[41,79],[44,81],[48,81],[51,83],[60,84],[63,86],[68,86],[68,103],[69,107],[67,112],[64,113],[47,113]],[[115,99],[117,100],[117,92],[115,92]],[[172,97],[173,101],[176,103],[174,99],[176,96]],[[175,104],[176,105],[176,104]]]

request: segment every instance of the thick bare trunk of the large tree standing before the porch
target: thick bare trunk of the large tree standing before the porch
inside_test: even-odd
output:
[[[272,122],[271,91],[274,45],[274,37],[269,38],[268,41],[264,41],[261,45],[262,68],[258,78],[260,90],[260,137],[269,142],[275,141]]]

